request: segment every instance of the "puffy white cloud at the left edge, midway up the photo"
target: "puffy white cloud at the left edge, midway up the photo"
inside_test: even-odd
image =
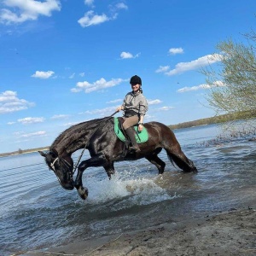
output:
[[[27,102],[24,99],[17,97],[17,92],[12,90],[6,90],[0,93],[0,114],[12,113],[20,110],[24,110],[33,107],[34,103]]]

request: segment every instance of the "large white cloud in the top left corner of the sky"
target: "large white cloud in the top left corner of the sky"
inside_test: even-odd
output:
[[[59,0],[47,0],[44,3],[35,0],[5,0],[2,2],[6,8],[0,10],[0,22],[5,24],[37,20],[40,15],[51,16],[53,11],[61,10]]]

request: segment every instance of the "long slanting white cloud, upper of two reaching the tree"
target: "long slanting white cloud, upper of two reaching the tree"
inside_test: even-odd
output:
[[[177,63],[174,69],[167,72],[166,75],[172,76],[177,73],[183,73],[185,71],[193,70],[199,67],[204,67],[204,66],[213,64],[217,61],[221,61],[221,59],[222,59],[222,55],[214,54],[214,55],[205,55],[201,58],[198,58],[195,61],[180,62],[180,63]]]

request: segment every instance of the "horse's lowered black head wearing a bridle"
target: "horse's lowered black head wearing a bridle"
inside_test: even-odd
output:
[[[61,187],[63,189],[72,190],[74,188],[72,158],[70,156],[59,156],[55,149],[50,150],[46,154],[43,151],[38,151],[38,153],[44,156],[49,169],[55,172]]]

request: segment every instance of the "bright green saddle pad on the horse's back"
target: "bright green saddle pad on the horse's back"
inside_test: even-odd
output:
[[[125,129],[123,128],[123,123],[125,120],[123,118],[113,118],[113,119],[114,119],[114,132],[116,136],[119,137],[119,139],[124,143],[127,143],[127,141],[129,142],[129,139],[125,134]],[[138,144],[146,143],[148,141],[147,129],[144,127],[143,131],[138,131],[137,125],[134,125],[133,127],[135,130],[135,137],[136,137],[137,143]]]

